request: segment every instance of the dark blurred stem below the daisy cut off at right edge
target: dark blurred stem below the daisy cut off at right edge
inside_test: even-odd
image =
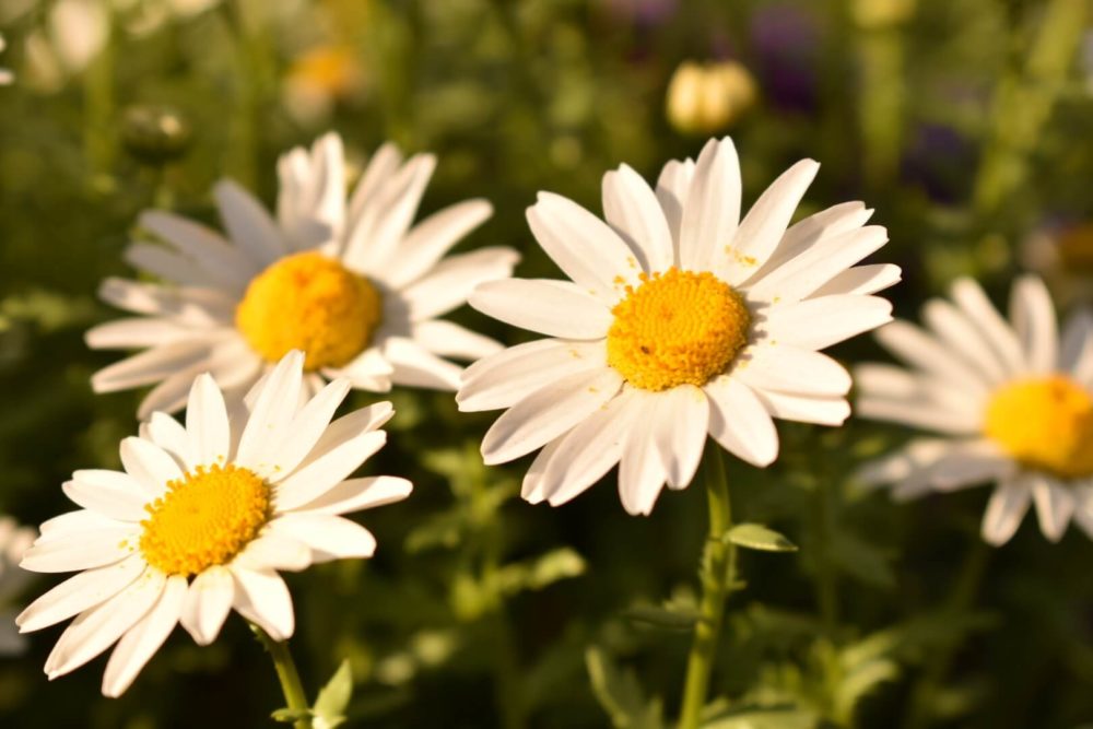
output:
[[[971,610],[979,592],[979,585],[983,583],[987,562],[990,558],[992,548],[984,542],[978,534],[975,534],[974,539],[975,543],[972,544],[964,557],[964,564],[961,565],[950,593],[949,603],[945,605],[945,612],[953,619]],[[938,691],[944,683],[959,648],[960,644],[953,643],[939,648],[930,657],[918,682],[912,690],[908,710],[904,715],[904,729],[924,729],[930,725]]]

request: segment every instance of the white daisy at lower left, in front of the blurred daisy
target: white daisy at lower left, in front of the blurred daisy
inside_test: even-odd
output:
[[[81,508],[43,524],[22,563],[80,572],[16,619],[27,632],[75,615],[46,660],[50,679],[117,642],[103,693],[118,696],[176,623],[207,645],[233,608],[285,640],[294,616],[278,571],[372,556],[372,533],[339,515],[410,493],[403,479],[346,479],[384,446],[391,405],[331,423],[350,383],[308,399],[303,365],[287,354],[231,412],[202,375],[185,425],[155,412],[121,442],[124,471],[72,474],[64,493]]]

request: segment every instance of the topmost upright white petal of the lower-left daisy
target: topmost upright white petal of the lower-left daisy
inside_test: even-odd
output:
[[[247,468],[261,468],[271,442],[289,431],[299,402],[304,353],[293,350],[269,374],[250,411],[235,459]]]

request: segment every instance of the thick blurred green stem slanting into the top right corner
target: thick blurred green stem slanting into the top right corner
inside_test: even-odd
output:
[[[1051,0],[1032,47],[1019,55],[1023,62],[1000,77],[975,180],[975,210],[982,219],[998,212],[1027,176],[1029,156],[1078,57],[1086,5],[1086,0]]]

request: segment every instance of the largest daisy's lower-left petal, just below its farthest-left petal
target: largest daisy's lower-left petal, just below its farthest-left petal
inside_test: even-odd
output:
[[[529,454],[590,415],[614,397],[622,376],[604,368],[577,373],[513,405],[486,432],[482,456],[493,466]]]

